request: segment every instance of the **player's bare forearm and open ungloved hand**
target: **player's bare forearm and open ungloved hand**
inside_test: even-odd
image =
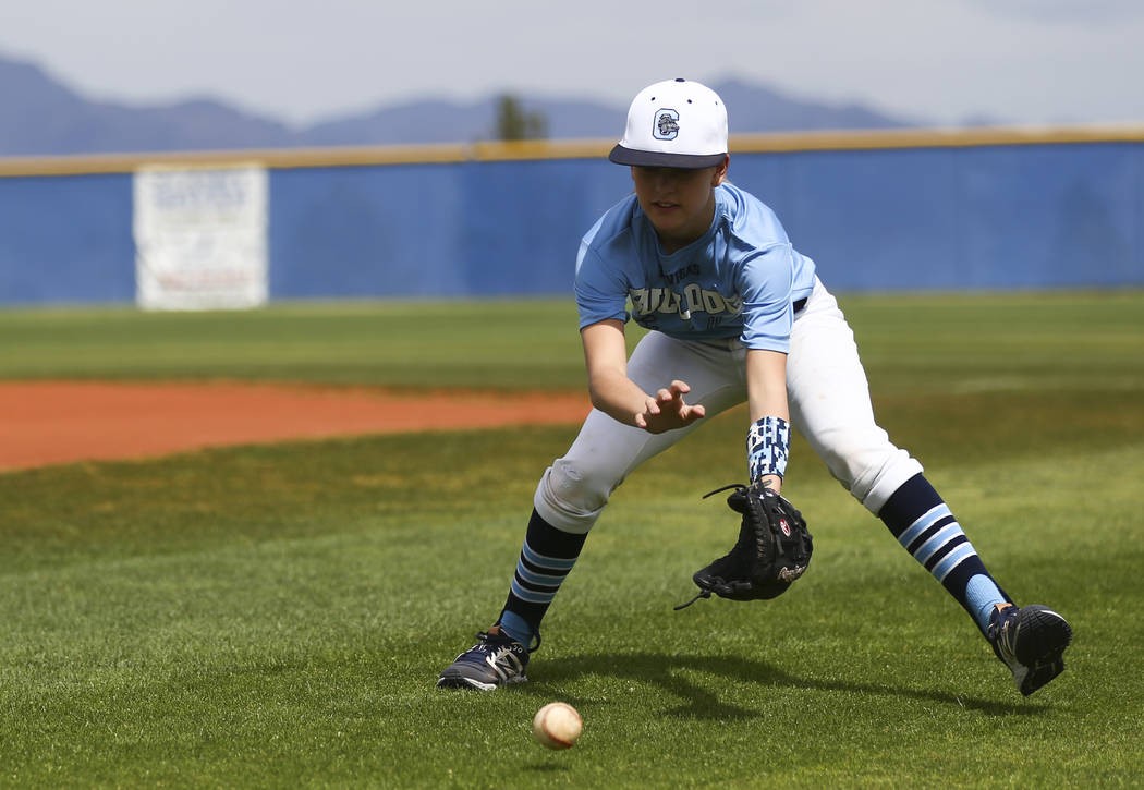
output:
[[[688,404],[685,381],[672,381],[654,395],[628,378],[628,349],[623,323],[615,319],[589,324],[580,331],[588,394],[591,405],[612,419],[658,434],[682,428],[704,416],[701,405]]]

